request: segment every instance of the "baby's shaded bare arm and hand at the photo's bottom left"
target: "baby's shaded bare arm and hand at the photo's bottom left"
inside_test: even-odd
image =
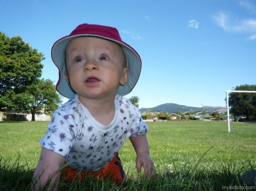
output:
[[[31,185],[32,190],[36,191],[39,190],[39,188],[43,188],[47,183],[47,180],[52,178],[50,184],[52,185],[56,181],[54,190],[57,191],[60,180],[59,169],[63,165],[64,161],[65,157],[42,147],[40,159],[34,171],[34,181]],[[48,190],[51,190],[50,188],[53,189],[51,186],[49,186]]]

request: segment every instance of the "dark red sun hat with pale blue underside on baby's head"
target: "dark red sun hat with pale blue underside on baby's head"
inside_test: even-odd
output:
[[[126,63],[129,68],[128,83],[124,86],[120,85],[117,91],[118,95],[125,96],[132,91],[137,83],[141,73],[141,57],[139,54],[128,44],[122,41],[119,32],[116,28],[103,25],[81,24],[78,25],[74,31],[69,35],[57,40],[52,47],[52,60],[59,69],[59,80],[56,84],[57,91],[67,98],[72,98],[75,95],[64,76],[66,71],[65,67],[65,50],[70,40],[77,37],[98,37],[110,40],[121,45],[125,55]]]

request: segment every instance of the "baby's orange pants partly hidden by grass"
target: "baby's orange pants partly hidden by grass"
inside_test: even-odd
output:
[[[118,154],[114,156],[107,166],[104,166],[99,171],[83,172],[67,166],[61,170],[61,176],[67,181],[77,179],[81,182],[90,176],[94,176],[98,180],[102,180],[102,178],[112,178],[112,182],[117,184],[122,184],[125,177],[121,159],[118,157]]]

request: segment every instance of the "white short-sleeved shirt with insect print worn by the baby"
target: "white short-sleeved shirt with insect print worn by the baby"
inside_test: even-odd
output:
[[[69,166],[85,172],[106,166],[130,136],[148,132],[141,113],[128,99],[115,97],[115,117],[104,126],[82,105],[78,95],[53,115],[41,146],[66,157]]]

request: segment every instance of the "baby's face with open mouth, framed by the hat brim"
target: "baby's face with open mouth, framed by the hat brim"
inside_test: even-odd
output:
[[[126,58],[121,46],[95,37],[71,40],[66,48],[66,80],[82,98],[115,96],[128,81]]]

